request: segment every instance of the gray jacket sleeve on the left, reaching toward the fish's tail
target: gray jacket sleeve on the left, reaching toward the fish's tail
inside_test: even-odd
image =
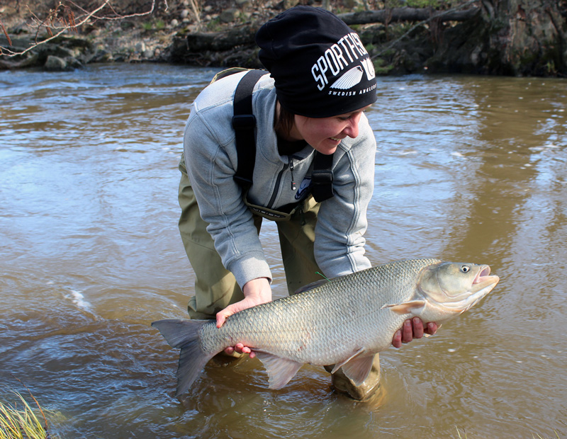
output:
[[[214,110],[203,115],[193,108],[184,133],[185,161],[201,217],[209,224],[207,231],[215,240],[215,249],[223,265],[243,287],[254,278],[271,280],[271,272],[252,212],[232,178],[237,154],[230,118],[222,114],[220,117]],[[228,130],[219,132],[220,125],[226,125]]]

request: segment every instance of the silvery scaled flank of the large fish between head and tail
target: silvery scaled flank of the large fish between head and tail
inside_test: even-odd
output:
[[[352,346],[389,344],[391,337],[376,343],[376,327],[399,327],[403,317],[381,309],[383,300],[411,297],[420,270],[439,262],[390,263],[245,309],[230,316],[220,329],[215,324],[203,326],[203,352],[219,352],[240,342],[303,363],[329,365],[352,354]],[[344,341],[341,346],[334,343],[338,338]]]

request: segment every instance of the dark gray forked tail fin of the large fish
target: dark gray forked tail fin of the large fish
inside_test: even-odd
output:
[[[208,360],[216,354],[216,352],[207,353],[201,349],[199,330],[208,322],[207,320],[164,319],[152,323],[152,326],[162,333],[169,346],[181,349],[176,373],[176,397],[184,394],[191,387]]]

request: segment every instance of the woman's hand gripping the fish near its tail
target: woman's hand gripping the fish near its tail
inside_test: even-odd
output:
[[[268,278],[250,280],[244,285],[242,292],[244,293],[243,300],[230,304],[228,307],[217,313],[217,328],[223,326],[227,317],[242,311],[242,309],[271,302],[271,287]],[[225,353],[228,353],[229,355],[234,352],[248,353],[250,354],[250,358],[254,358],[256,356],[248,346],[244,346],[242,343],[237,343],[236,346],[229,346],[225,349]]]

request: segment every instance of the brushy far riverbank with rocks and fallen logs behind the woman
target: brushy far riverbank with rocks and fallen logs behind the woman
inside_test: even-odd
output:
[[[567,0],[43,0],[34,10],[6,0],[0,69],[260,67],[255,31],[298,3],[329,8],[357,30],[378,74],[567,75]]]

